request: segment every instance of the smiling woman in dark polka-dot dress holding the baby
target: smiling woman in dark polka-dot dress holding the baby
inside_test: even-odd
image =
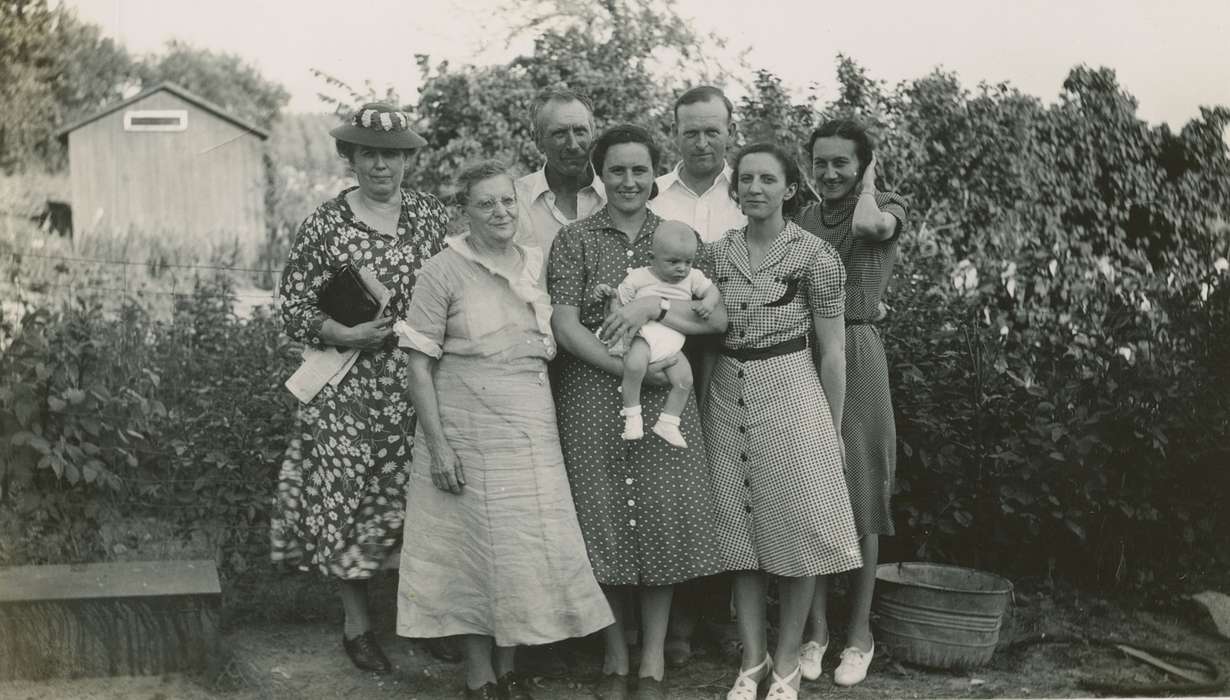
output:
[[[726,310],[717,305],[702,317],[692,303],[647,293],[629,295],[617,310],[608,310],[599,285],[614,289],[654,260],[662,219],[646,203],[654,194],[661,151],[645,129],[617,125],[594,143],[592,159],[608,203],[560,231],[547,271],[555,306],[551,325],[563,351],[555,388],[560,440],[589,560],[615,613],[615,624],[604,632],[599,695],[630,696],[622,597],[635,593],[641,663],[633,696],[665,698],[663,653],[673,586],[720,570],[704,440],[690,392],[673,426],[686,437],[686,447],[659,434],[625,439],[625,363],[609,346],[629,343],[649,321],[684,335],[721,332]],[[668,247],[683,247],[678,236],[670,239]],[[638,402],[653,424],[672,394],[667,369],[680,362],[686,360],[675,353],[646,365]],[[674,369],[672,374],[679,375]]]

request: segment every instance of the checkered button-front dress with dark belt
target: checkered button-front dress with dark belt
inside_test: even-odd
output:
[[[745,233],[728,233],[705,253],[731,319],[726,347],[814,340],[813,311],[841,316],[845,271],[831,246],[787,224],[753,271]],[[862,565],[836,431],[809,352],[749,362],[721,356],[704,421],[726,570],[815,576]]]

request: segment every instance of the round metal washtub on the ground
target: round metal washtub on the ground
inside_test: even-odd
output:
[[[876,643],[893,657],[932,668],[969,669],[999,643],[1012,582],[943,563],[876,567]]]

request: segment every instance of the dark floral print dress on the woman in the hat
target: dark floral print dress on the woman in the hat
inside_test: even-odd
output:
[[[285,332],[322,346],[319,298],[342,264],[367,267],[392,292],[385,315],[410,305],[423,262],[443,250],[448,212],[430,194],[402,191],[396,235],[359,220],[343,191],[299,229],[282,274]],[[395,551],[405,519],[415,413],[403,351],[363,351],[336,386],[299,410],[278,476],[272,522],[274,563],[342,579],[370,578]]]

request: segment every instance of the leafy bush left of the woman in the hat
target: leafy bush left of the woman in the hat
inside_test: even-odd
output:
[[[139,543],[107,525],[146,518],[224,575],[263,563],[294,415],[279,322],[237,319],[226,277],[198,279],[169,321],[103,299],[28,314],[4,358],[0,562],[122,555]]]

